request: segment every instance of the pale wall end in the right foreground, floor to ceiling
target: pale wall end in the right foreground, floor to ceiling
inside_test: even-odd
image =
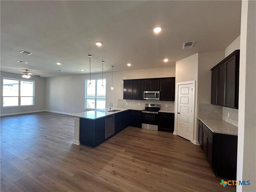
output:
[[[256,191],[256,1],[242,1],[236,191]]]

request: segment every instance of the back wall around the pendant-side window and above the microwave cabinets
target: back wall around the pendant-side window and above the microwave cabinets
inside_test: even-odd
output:
[[[175,66],[113,72],[114,90],[110,90],[111,72],[106,78],[106,108],[109,102],[117,106],[123,98],[123,79],[174,77]],[[101,78],[102,74],[92,74],[91,78]],[[73,75],[46,79],[46,110],[63,113],[77,113],[84,110],[85,80],[89,75]]]

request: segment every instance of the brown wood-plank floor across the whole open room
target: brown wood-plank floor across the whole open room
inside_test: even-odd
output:
[[[74,120],[40,112],[1,118],[1,191],[235,191],[199,146],[128,127],[96,148],[72,144]]]

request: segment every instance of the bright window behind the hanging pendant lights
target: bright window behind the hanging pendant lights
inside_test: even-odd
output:
[[[106,108],[106,79],[87,79],[85,85],[85,108]]]

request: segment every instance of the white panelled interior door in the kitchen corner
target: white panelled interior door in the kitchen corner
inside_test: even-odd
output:
[[[185,139],[192,140],[194,127],[194,85],[178,85],[178,114],[177,134]]]

